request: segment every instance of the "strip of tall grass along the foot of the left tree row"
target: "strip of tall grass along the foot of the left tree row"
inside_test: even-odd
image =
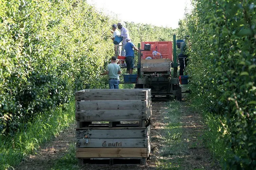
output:
[[[63,108],[68,110],[64,111]],[[20,126],[13,138],[1,136],[0,169],[18,165],[22,158],[39,148],[39,146],[58,136],[59,132],[75,121],[75,103],[61,105],[52,112],[42,113],[26,128]]]

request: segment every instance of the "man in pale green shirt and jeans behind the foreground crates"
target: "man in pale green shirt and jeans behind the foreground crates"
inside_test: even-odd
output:
[[[111,63],[107,65],[105,73],[101,75],[108,75],[109,77],[109,88],[110,89],[119,89],[118,77],[121,74],[121,69],[118,64],[116,64],[116,57],[111,57]]]

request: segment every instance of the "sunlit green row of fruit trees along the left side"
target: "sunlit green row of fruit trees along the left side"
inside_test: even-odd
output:
[[[1,135],[76,90],[105,87],[98,72],[113,53],[108,18],[82,0],[2,0],[0,8]]]

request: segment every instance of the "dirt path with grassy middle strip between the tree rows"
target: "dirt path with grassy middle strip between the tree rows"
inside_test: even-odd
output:
[[[190,109],[187,102],[170,102],[157,98],[152,102],[152,107],[152,147],[147,166],[85,165],[85,167],[79,167],[76,162],[72,169],[220,169],[202,142],[202,131],[205,128],[202,118]],[[66,129],[59,137],[38,150],[36,155],[27,157],[17,169],[55,169],[56,161],[68,153],[70,144],[74,144],[74,129],[75,125]],[[62,168],[68,169],[64,166]]]

